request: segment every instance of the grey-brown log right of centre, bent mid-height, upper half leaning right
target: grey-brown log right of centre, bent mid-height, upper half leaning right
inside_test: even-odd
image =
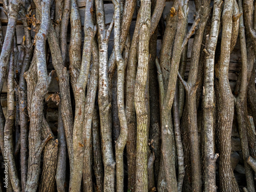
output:
[[[186,7],[184,7],[186,8]],[[182,42],[185,33],[185,15],[181,6],[178,9],[178,18],[180,22],[177,26],[177,33],[174,42],[174,55],[172,58],[172,65],[170,68],[168,87],[166,94],[162,94],[163,102],[161,103],[161,134],[162,134],[162,153],[165,169],[165,177],[168,191],[177,191],[177,180],[175,171],[175,141],[173,124],[170,119],[171,107],[173,104],[176,80],[179,69],[180,58],[182,54]],[[161,97],[161,96],[160,96]]]

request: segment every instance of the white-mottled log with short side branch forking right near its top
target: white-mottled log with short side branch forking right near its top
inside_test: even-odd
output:
[[[104,7],[102,0],[95,1],[96,20],[98,27],[99,43],[99,114],[102,137],[103,163],[104,163],[104,191],[114,191],[115,161],[111,139],[110,98],[108,79],[108,41],[113,27],[112,23],[108,30],[105,29]]]

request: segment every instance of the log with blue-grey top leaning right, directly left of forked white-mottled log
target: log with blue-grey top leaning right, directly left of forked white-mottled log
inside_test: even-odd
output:
[[[82,168],[83,168],[83,151],[84,151],[84,142],[83,139],[86,139],[87,142],[90,143],[90,139],[87,137],[83,138],[83,121],[84,121],[84,113],[85,110],[85,102],[86,102],[86,85],[90,70],[90,61],[91,61],[91,53],[92,53],[92,41],[94,35],[96,33],[96,26],[93,25],[93,18],[91,14],[91,9],[93,9],[92,1],[87,1],[86,12],[84,15],[84,45],[83,45],[83,54],[81,60],[81,68],[79,72],[79,76],[75,83],[75,119],[74,119],[74,128],[73,128],[73,150],[74,150],[74,161],[73,161],[73,170],[71,173],[70,180],[70,191],[79,191],[81,186],[82,179]],[[90,102],[87,102],[88,104]],[[93,104],[94,102],[91,101]],[[87,105],[88,105],[87,104]],[[90,106],[89,106],[90,107]],[[93,107],[90,108],[91,112]],[[86,119],[87,121],[88,119]],[[90,122],[90,118],[89,118]],[[86,124],[88,126],[88,124]],[[90,134],[91,135],[91,134]],[[86,142],[86,143],[87,143]],[[87,144],[88,145],[88,144]],[[88,152],[88,151],[87,151]],[[90,185],[89,185],[90,186]]]

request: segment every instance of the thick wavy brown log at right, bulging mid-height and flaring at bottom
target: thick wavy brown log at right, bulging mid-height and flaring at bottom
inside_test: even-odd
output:
[[[232,1],[224,3],[223,32],[221,41],[221,58],[219,71],[220,111],[219,111],[219,139],[220,139],[220,188],[221,191],[239,191],[238,184],[230,163],[231,154],[231,126],[233,122],[234,100],[228,81],[228,66],[232,30]]]

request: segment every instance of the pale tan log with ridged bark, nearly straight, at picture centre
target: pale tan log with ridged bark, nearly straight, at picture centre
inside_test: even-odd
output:
[[[145,89],[148,73],[148,45],[150,41],[151,2],[141,1],[140,34],[138,46],[138,68],[134,91],[134,101],[137,117],[137,146],[136,146],[136,191],[147,191],[147,137],[148,117],[146,110]]]

